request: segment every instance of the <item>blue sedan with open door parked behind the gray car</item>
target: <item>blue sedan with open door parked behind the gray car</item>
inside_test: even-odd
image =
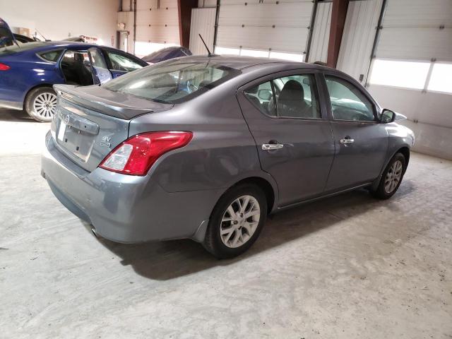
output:
[[[0,48],[0,107],[50,121],[54,84],[95,85],[148,64],[119,49],[81,42],[30,42]]]

